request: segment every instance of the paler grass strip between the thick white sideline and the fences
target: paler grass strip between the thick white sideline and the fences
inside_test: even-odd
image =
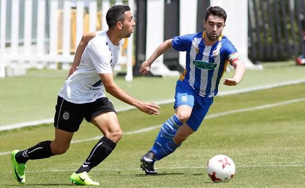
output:
[[[296,66],[294,62],[264,63],[263,66],[261,71],[247,70],[243,81],[234,87],[220,84],[219,91],[305,79],[305,66]],[[232,77],[233,72],[226,73],[224,78]],[[26,76],[0,79],[0,126],[53,118],[57,93],[66,76],[67,70],[28,70]],[[116,77],[115,82],[132,96],[154,102],[173,99],[177,79],[135,77],[133,82],[126,82],[124,77]],[[128,106],[108,97],[116,109]]]

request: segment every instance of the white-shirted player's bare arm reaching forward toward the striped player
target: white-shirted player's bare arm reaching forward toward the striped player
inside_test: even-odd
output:
[[[133,105],[146,114],[159,115],[160,106],[154,103],[141,102],[121,89],[113,80],[113,74],[98,74],[108,93],[118,100]]]

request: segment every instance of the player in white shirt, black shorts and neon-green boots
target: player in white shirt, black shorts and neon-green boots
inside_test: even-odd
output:
[[[76,185],[99,185],[89,177],[88,172],[108,157],[122,137],[116,110],[105,96],[105,90],[142,112],[159,114],[158,105],[138,101],[118,87],[113,80],[113,68],[117,63],[123,38],[130,37],[135,26],[129,6],[111,7],[107,12],[106,21],[109,26],[107,31],[84,35],[76,50],[69,77],[58,93],[54,117],[55,139],[12,152],[13,175],[18,183],[25,183],[24,169],[28,160],[65,153],[73,133],[85,118],[104,136],[96,143],[83,165],[70,176],[70,181]],[[85,39],[92,37],[94,38],[87,44]],[[77,68],[75,65],[78,65]]]

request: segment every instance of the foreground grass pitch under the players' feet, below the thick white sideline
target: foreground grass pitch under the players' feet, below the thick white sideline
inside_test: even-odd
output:
[[[157,176],[145,176],[139,159],[159,129],[132,131],[163,124],[173,113],[172,104],[162,105],[159,116],[137,110],[119,112],[125,135],[91,175],[103,188],[304,188],[304,110],[305,84],[215,97],[200,129],[174,154],[156,163]],[[19,186],[5,153],[51,140],[53,132],[53,125],[0,132],[0,187]],[[91,138],[97,136],[101,136],[97,129],[84,122],[67,153],[29,161],[26,187],[72,187],[70,174],[85,160],[97,141]],[[206,174],[205,165],[216,154],[235,161],[235,177],[229,183],[212,183]]]

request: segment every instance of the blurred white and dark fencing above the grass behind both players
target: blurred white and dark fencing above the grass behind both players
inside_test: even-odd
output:
[[[249,68],[304,54],[304,0],[0,0],[0,76],[28,68],[69,69],[82,34],[107,29],[105,15],[115,4],[128,4],[137,22],[116,69],[128,81],[161,42],[203,31],[205,11],[214,5],[227,11],[224,34]],[[184,56],[175,50],[164,54],[151,73],[179,74]]]

